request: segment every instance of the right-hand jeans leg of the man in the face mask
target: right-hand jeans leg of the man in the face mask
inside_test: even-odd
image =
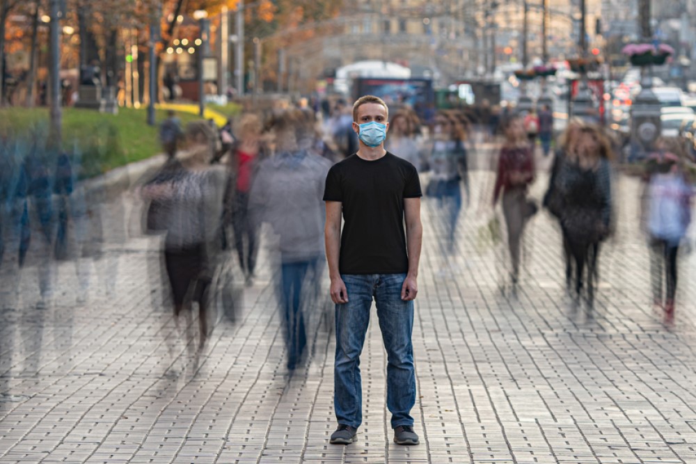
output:
[[[391,427],[413,426],[416,370],[413,365],[413,301],[401,299],[406,274],[381,274],[374,287],[379,328],[387,352],[387,408]],[[348,292],[349,298],[350,291]]]

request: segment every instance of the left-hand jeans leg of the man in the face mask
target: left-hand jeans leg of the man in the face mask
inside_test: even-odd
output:
[[[333,408],[338,424],[357,429],[363,422],[360,353],[370,322],[376,275],[342,275],[348,303],[336,305],[336,353]]]

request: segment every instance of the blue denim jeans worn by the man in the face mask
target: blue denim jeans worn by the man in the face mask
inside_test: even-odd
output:
[[[339,424],[356,429],[363,422],[360,353],[370,322],[372,298],[387,351],[387,408],[391,426],[413,425],[409,414],[416,403],[413,367],[413,301],[402,301],[406,274],[341,275],[348,303],[336,305],[336,358],[333,407]]]

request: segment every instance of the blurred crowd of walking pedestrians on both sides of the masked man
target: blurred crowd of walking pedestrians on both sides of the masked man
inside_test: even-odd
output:
[[[581,120],[555,134],[548,107],[525,115],[494,110],[482,122],[459,110],[423,121],[411,109],[397,109],[386,149],[422,175],[441,259],[462,253],[457,242],[472,198],[470,170],[493,170],[489,212],[476,214],[489,214],[491,234],[506,237],[513,291],[525,228],[543,207],[560,227],[569,294],[591,307],[600,250],[617,221],[612,146],[601,127]],[[221,128],[208,121],[182,127],[170,113],[159,127],[166,160],[138,179],[123,171],[122,182],[134,186],[126,195],[112,193],[104,176],[93,178],[108,147],[85,151],[76,141],[72,150],[56,152],[45,145],[41,127],[4,134],[2,307],[49,307],[56,290],[65,291],[56,283],[58,263],[71,263],[61,269],[72,269],[77,303],[112,294],[125,243],[146,234],[161,245],[148,274],[150,285],[164,292],[153,292],[152,303],[171,307],[177,337],[196,362],[216,314],[239,317],[244,287],[258,280],[261,264],[274,282],[287,367],[294,369],[306,357],[307,318],[326,303],[322,193],[333,163],[358,150],[352,122],[351,105],[341,99],[244,111]],[[553,161],[539,205],[529,191],[548,154]],[[664,138],[640,167],[654,303],[667,318],[674,314],[677,259],[690,225],[691,166],[683,144]],[[503,221],[494,212],[498,203]]]

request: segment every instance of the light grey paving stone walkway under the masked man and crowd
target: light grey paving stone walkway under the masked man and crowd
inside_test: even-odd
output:
[[[565,296],[560,236],[545,212],[528,225],[512,294],[503,245],[480,232],[492,174],[471,181],[452,250],[437,206],[423,208],[420,445],[392,442],[374,317],[364,424],[353,445],[330,445],[328,296],[308,314],[308,358],[291,376],[262,257],[238,320],[217,323],[196,369],[152,278],[157,239],[135,237],[88,262],[86,303],[75,303],[73,263],[58,265],[47,310],[33,307],[35,269],[22,275],[19,303],[1,313],[0,463],[696,463],[696,258],[681,257],[677,316],[663,321],[651,307],[635,179],[617,179],[617,232],[603,246],[591,311]],[[540,175],[532,195],[545,184]]]

